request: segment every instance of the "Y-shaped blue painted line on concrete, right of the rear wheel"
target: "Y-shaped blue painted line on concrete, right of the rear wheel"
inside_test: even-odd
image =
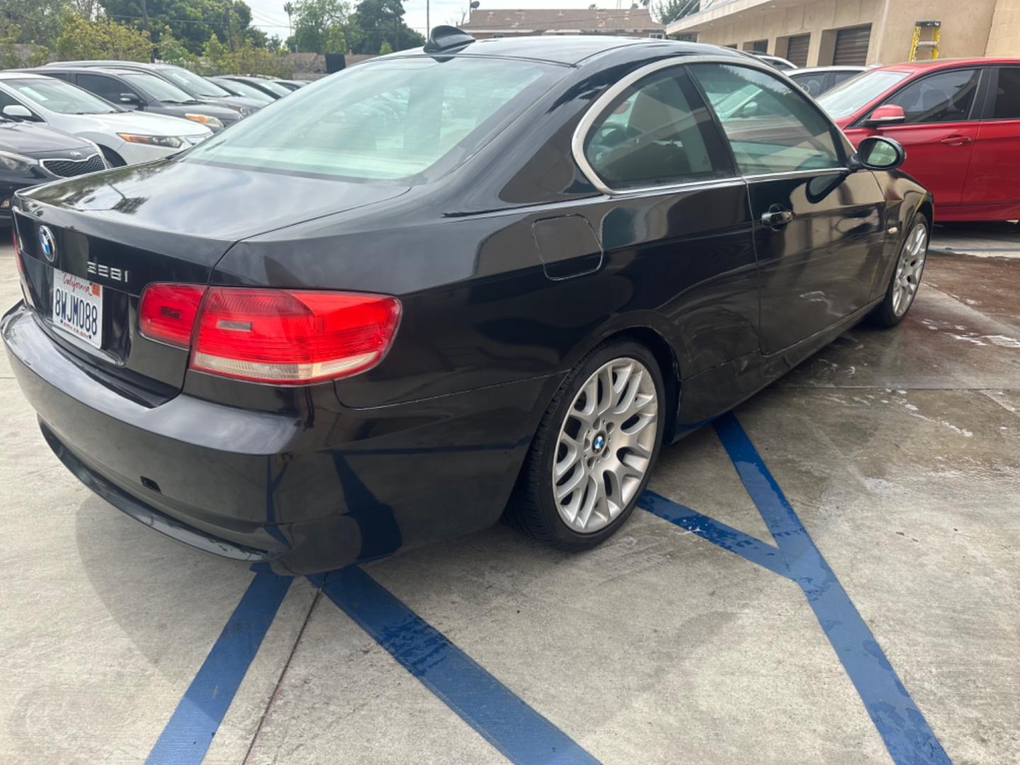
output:
[[[670,503],[658,495],[652,495],[647,500],[642,498],[642,506],[666,517],[667,513],[663,509],[672,504],[674,507],[669,513],[675,519],[667,519],[796,581],[804,591],[822,630],[860,694],[892,761],[898,765],[948,765],[949,756],[928,726],[924,715],[910,698],[878,642],[839,584],[835,573],[815,547],[736,417],[732,413],[724,414],[714,424],[741,481],[778,547],[773,548],[761,542],[758,545],[750,544],[749,540],[758,541],[718,521],[706,519],[681,505]],[[697,519],[693,521],[696,516]],[[706,523],[706,520],[709,522]],[[713,528],[713,524],[718,528]],[[720,532],[719,528],[725,532]],[[772,565],[774,561],[767,557],[772,550],[781,554],[785,564],[784,571],[777,570]]]

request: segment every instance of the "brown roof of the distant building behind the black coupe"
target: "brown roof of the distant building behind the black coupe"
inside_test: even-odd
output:
[[[647,8],[507,8],[471,11],[465,32],[612,33],[663,30]]]

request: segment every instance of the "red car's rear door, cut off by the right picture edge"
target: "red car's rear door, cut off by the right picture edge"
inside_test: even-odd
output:
[[[962,201],[980,207],[975,215],[1015,218],[1020,216],[1020,66],[989,69],[987,76]]]

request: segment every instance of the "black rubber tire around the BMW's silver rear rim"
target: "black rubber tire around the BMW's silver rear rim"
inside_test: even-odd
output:
[[[593,532],[580,533],[571,528],[560,516],[553,499],[553,466],[557,443],[560,428],[566,421],[570,407],[581,387],[596,371],[616,359],[635,360],[651,374],[657,405],[655,442],[651,448],[651,458],[645,469],[645,474],[622,512],[604,527]],[[662,447],[663,422],[666,414],[665,401],[662,371],[655,356],[648,348],[629,339],[611,340],[597,346],[574,367],[550,402],[524,459],[520,476],[504,515],[506,521],[517,530],[539,542],[561,550],[586,550],[596,547],[615,533],[633,512],[638,499],[648,486],[649,477],[655,468],[659,450]],[[622,429],[621,426],[620,430],[622,431]],[[607,447],[607,451],[610,448],[611,445]]]

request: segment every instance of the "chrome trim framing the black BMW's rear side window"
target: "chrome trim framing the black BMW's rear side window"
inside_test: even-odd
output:
[[[588,140],[589,134],[595,128],[595,123],[606,111],[606,108],[627,88],[632,86],[650,74],[655,74],[663,69],[677,68],[683,70],[685,65],[694,61],[722,61],[727,62],[727,57],[724,56],[669,56],[668,58],[661,58],[658,61],[653,61],[652,63],[645,64],[644,66],[639,66],[633,71],[623,75],[617,80],[613,85],[609,86],[605,91],[602,92],[598,98],[589,106],[588,111],[577,122],[577,126],[574,128],[573,137],[570,139],[570,153],[573,154],[574,162],[580,168],[581,173],[588,180],[588,182],[594,186],[597,190],[609,197],[619,197],[626,194],[646,194],[655,191],[672,191],[675,189],[685,189],[692,186],[705,186],[705,185],[715,185],[716,182],[725,181],[730,182],[733,180],[738,180],[741,177],[740,169],[732,161],[732,149],[729,146],[729,141],[726,139],[725,134],[720,134],[719,139],[723,142],[722,145],[728,152],[728,157],[730,161],[729,168],[719,168],[720,171],[728,169],[732,174],[721,178],[706,178],[703,181],[679,181],[671,184],[655,184],[653,186],[634,188],[634,189],[613,189],[608,186],[599,176],[599,173],[595,171],[592,163],[588,161],[588,157],[584,155],[584,142]],[[761,69],[764,70],[768,67],[768,64],[762,64]],[[753,66],[751,68],[759,68],[758,66]],[[719,133],[719,123],[716,120],[715,112],[712,110],[711,104],[705,101],[704,94],[698,83],[691,78],[690,72],[683,72],[687,78],[691,79],[692,84],[697,89],[699,95],[702,97],[703,105],[708,109],[709,114],[712,116],[714,129],[716,133]]]

